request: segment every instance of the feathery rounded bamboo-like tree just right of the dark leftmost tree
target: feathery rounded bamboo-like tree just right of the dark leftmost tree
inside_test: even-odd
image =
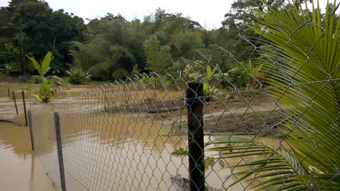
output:
[[[113,80],[128,76],[136,63],[130,51],[133,42],[130,23],[122,16],[108,13],[101,19],[90,21],[86,42],[74,42],[74,64],[93,74],[97,80]],[[141,42],[140,42],[141,43]],[[138,53],[140,55],[140,53]]]

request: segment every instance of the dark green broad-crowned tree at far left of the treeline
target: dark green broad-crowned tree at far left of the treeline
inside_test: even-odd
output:
[[[55,59],[51,62],[54,72],[67,68],[72,62],[69,55],[71,40],[83,39],[84,21],[64,10],[52,11],[45,1],[12,0],[8,7],[0,9],[0,54],[6,53],[2,45],[11,45],[20,54],[9,62],[13,67],[21,65],[20,70],[25,74],[35,72],[33,66],[27,64],[25,54],[43,57],[47,50],[52,50]],[[0,63],[5,63],[0,56]],[[59,69],[58,69],[59,68]],[[52,70],[50,71],[52,72]]]

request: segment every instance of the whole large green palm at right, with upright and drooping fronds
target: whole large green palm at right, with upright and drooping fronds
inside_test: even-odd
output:
[[[312,11],[307,4],[305,11],[297,6],[289,4],[280,11],[267,6],[267,11],[256,11],[258,22],[250,26],[266,38],[263,43],[280,52],[273,55],[273,62],[262,65],[263,82],[280,86],[270,92],[283,108],[290,108],[285,109],[290,118],[283,131],[289,148],[252,137],[212,141],[217,158],[242,158],[231,166],[237,177],[232,185],[248,183],[246,188],[254,190],[340,190],[340,22],[335,14],[339,4],[334,1],[324,14],[319,2]]]

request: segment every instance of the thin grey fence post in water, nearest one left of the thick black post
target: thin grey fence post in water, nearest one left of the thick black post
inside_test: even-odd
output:
[[[66,191],[65,173],[64,173],[64,158],[62,157],[62,134],[60,133],[60,117],[59,113],[55,112],[55,136],[57,138],[58,161],[60,170],[60,183],[62,191]]]

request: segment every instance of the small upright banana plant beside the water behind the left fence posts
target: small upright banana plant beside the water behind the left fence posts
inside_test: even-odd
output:
[[[26,55],[26,57],[28,57]],[[50,69],[50,62],[52,60],[52,52],[47,52],[42,62],[39,64],[34,57],[28,57],[30,62],[33,63],[34,68],[38,71],[41,78],[41,84],[39,88],[39,95],[31,94],[40,103],[48,103],[52,96],[57,96],[56,81],[62,81],[57,76],[48,76],[45,78],[45,74]]]

